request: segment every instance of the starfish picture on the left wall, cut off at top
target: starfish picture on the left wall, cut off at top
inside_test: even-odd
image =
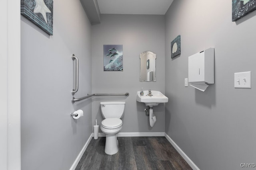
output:
[[[53,0],[21,0],[20,14],[53,35]]]

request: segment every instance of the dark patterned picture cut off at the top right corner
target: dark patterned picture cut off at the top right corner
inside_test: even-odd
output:
[[[232,21],[237,21],[254,10],[256,0],[232,0]]]

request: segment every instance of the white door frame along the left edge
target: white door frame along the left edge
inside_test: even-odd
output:
[[[20,170],[20,0],[0,10],[0,169]]]

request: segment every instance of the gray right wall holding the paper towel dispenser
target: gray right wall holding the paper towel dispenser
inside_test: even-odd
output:
[[[255,163],[256,12],[232,22],[231,1],[174,0],[165,16],[166,133],[202,170]],[[170,42],[181,35],[181,55]],[[188,57],[215,48],[215,84],[184,87]],[[252,71],[252,88],[235,89],[234,72]]]

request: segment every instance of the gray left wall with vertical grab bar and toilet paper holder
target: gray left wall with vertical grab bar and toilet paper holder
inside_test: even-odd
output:
[[[91,93],[91,25],[80,1],[54,0],[53,36],[21,18],[22,170],[67,170],[92,133],[91,101],[71,103],[73,61],[79,90]],[[84,117],[70,113],[82,109]]]

